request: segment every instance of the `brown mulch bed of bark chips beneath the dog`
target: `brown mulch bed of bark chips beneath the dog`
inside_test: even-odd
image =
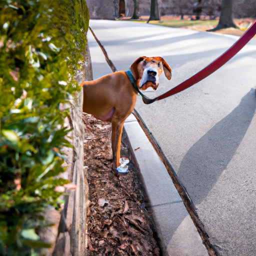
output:
[[[145,208],[139,173],[112,169],[111,124],[82,113],[85,124],[84,165],[88,166],[87,255],[160,255],[150,213]],[[121,156],[131,160],[123,132]]]

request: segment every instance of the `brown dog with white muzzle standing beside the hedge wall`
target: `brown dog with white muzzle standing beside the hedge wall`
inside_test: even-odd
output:
[[[159,75],[171,78],[171,69],[162,57],[139,57],[130,66],[131,74],[140,90],[158,87]],[[125,71],[104,75],[94,81],[83,81],[82,110],[95,118],[112,123],[112,152],[114,168],[119,166],[121,133],[124,120],[132,112],[137,91]]]

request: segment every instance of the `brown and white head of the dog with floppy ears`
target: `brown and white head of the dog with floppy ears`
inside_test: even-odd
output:
[[[139,57],[130,66],[130,71],[140,90],[157,89],[162,71],[168,80],[171,78],[171,69],[162,57]]]

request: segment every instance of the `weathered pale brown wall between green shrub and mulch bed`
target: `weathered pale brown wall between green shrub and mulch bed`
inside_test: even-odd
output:
[[[78,84],[82,80],[93,79],[88,46],[82,55],[84,57],[83,70],[77,70],[75,75]],[[69,185],[65,191],[69,195],[65,198],[61,212],[55,210],[54,207],[45,210],[45,219],[54,225],[40,230],[39,236],[43,241],[52,244],[51,248],[43,249],[45,256],[85,256],[87,248],[86,208],[89,200],[88,183],[85,178],[87,168],[83,166],[82,90],[76,92],[70,104],[63,107],[69,107],[70,115],[65,118],[64,124],[72,129],[66,138],[73,148],[62,148],[66,154],[66,170],[60,176],[68,179],[73,185]]]

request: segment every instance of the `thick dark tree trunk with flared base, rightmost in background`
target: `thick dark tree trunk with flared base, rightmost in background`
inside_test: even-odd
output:
[[[227,27],[236,27],[232,19],[232,0],[222,0],[218,25],[207,31],[216,31]]]

